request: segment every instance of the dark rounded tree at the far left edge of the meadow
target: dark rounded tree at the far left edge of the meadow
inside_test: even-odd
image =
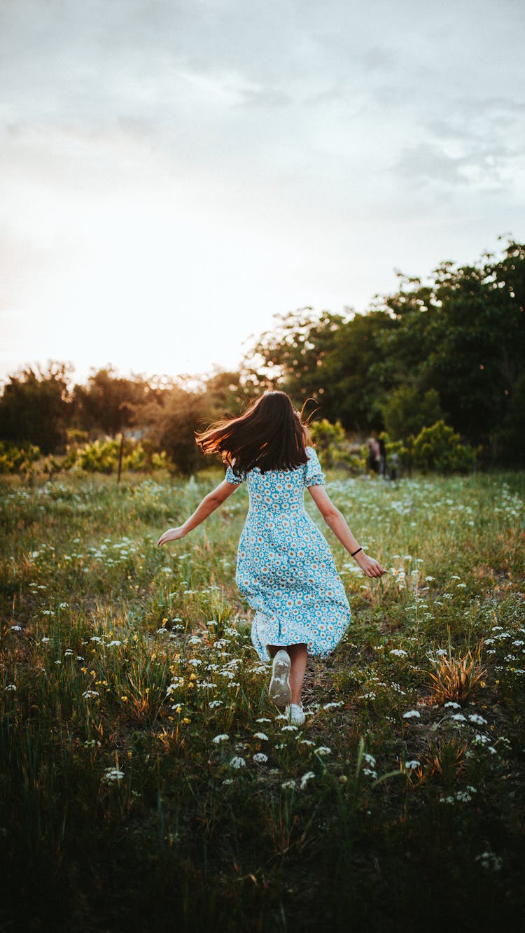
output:
[[[0,439],[36,444],[52,453],[65,442],[71,417],[67,385],[70,364],[48,362],[48,369],[21,369],[9,376],[0,398]]]

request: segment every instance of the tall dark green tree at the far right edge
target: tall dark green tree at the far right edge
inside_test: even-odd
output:
[[[394,316],[383,341],[395,385],[435,389],[449,424],[493,449],[525,353],[525,245],[509,241],[502,258],[475,266],[445,262],[427,285],[401,278],[384,299]]]

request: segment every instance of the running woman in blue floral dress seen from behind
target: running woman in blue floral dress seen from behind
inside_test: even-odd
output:
[[[177,541],[218,508],[246,480],[250,508],[237,555],[236,581],[255,611],[252,643],[269,661],[269,696],[301,726],[301,691],[308,652],[325,658],[336,648],[351,611],[325,537],[304,508],[308,489],[326,524],[366,577],[386,570],[368,557],[325,492],[325,475],[309,434],[284,392],[266,392],[239,418],[196,436],[203,453],[220,453],[225,479],[179,528],[159,537]]]

